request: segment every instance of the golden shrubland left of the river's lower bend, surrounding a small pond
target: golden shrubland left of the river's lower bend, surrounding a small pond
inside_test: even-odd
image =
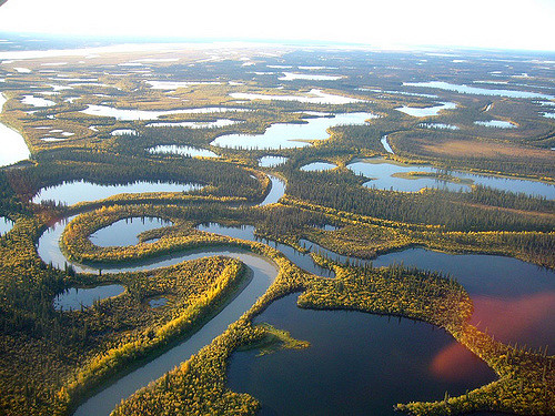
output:
[[[154,272],[64,275],[41,266],[32,244],[31,250],[26,250],[32,240],[23,236],[37,233],[40,226],[40,222],[20,216],[0,244],[6,258],[11,258],[2,263],[2,275],[18,271],[21,276],[19,282],[2,280],[3,307],[8,303],[16,305],[10,315],[2,317],[2,327],[9,334],[2,338],[2,348],[6,357],[12,357],[11,363],[19,356],[32,357],[29,363],[33,366],[41,363],[32,371],[21,363],[14,368],[2,361],[6,394],[1,408],[7,414],[67,414],[91,387],[193,332],[243,282],[241,263],[226,257],[201,258]],[[30,284],[27,276],[31,273],[40,276],[38,283]],[[105,283],[121,283],[125,292],[88,308],[52,310],[50,296],[63,287]],[[24,297],[18,294],[22,290]],[[41,293],[51,293],[50,298],[38,302]],[[169,298],[168,305],[149,307],[148,301],[160,295]],[[28,334],[24,344],[14,337],[18,333]],[[13,402],[23,392],[26,399]]]

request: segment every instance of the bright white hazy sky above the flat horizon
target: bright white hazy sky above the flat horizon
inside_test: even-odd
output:
[[[0,0],[1,2],[1,0]],[[0,31],[555,51],[555,0],[9,0]]]

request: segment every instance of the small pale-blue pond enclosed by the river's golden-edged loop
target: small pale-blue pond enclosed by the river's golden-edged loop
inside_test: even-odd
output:
[[[123,219],[98,230],[90,235],[90,240],[101,247],[135,245],[139,234],[170,225],[173,225],[171,221],[152,216]]]

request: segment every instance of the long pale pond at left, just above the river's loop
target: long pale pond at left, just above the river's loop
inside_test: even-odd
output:
[[[32,202],[39,204],[42,201],[58,201],[67,205],[73,205],[82,201],[103,200],[120,193],[189,192],[201,187],[201,185],[192,183],[179,184],[149,181],[138,181],[124,185],[102,185],[81,180],[44,187],[32,199]]]

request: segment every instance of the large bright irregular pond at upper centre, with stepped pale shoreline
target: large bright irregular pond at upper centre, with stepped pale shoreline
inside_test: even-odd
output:
[[[306,123],[272,124],[262,134],[225,134],[216,138],[212,145],[249,150],[291,149],[311,145],[310,140],[330,138],[327,129],[341,124],[364,124],[374,119],[372,113],[341,113],[333,118],[307,119]]]

